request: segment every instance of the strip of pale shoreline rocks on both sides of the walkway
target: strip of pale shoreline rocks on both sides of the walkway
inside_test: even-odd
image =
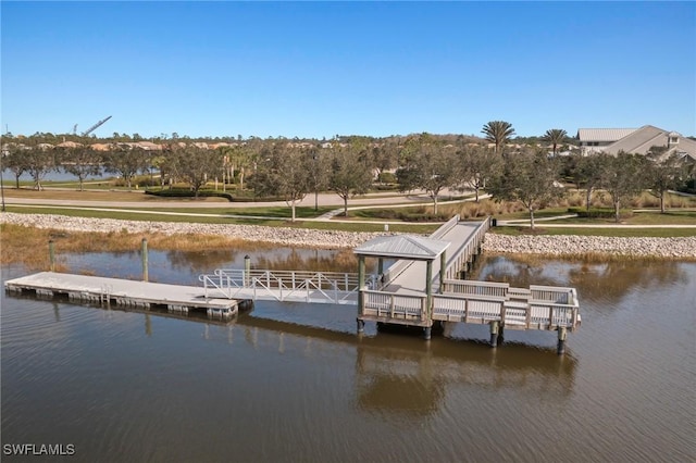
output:
[[[119,221],[112,218],[69,217],[44,214],[0,214],[1,223],[55,228],[69,232],[161,233],[221,235],[282,246],[325,249],[353,248],[387,233],[353,233],[256,225],[192,224],[172,222]],[[684,238],[619,238],[597,236],[508,236],[486,235],[483,249],[488,252],[582,255],[611,254],[662,259],[696,259],[696,236]]]

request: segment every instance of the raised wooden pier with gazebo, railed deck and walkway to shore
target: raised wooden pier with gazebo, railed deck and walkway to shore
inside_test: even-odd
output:
[[[434,325],[443,323],[488,324],[493,347],[505,329],[552,330],[558,331],[558,352],[563,353],[567,334],[580,328],[582,321],[574,288],[511,288],[463,279],[488,226],[488,220],[474,224],[455,216],[430,238],[381,237],[356,248],[361,288],[358,333],[366,321],[418,326],[425,339]],[[368,256],[399,260],[384,272],[376,289],[364,284]]]

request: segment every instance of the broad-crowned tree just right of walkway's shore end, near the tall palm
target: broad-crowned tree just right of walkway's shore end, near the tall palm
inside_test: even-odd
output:
[[[519,201],[530,213],[530,226],[534,229],[534,211],[563,195],[557,184],[558,162],[538,150],[525,150],[506,162],[502,175],[487,188],[496,199]]]

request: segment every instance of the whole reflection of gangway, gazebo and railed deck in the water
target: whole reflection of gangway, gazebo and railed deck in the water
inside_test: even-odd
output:
[[[343,356],[355,348],[358,406],[415,416],[436,412],[447,395],[471,387],[562,404],[573,393],[577,365],[572,355],[557,355],[554,348],[509,343],[506,349],[490,349],[484,342],[467,342],[462,349],[462,341],[446,338],[428,343],[405,336],[356,338],[252,315],[240,315],[227,329],[211,330],[207,339],[232,343],[244,339],[254,349],[295,351],[312,359],[320,353]]]

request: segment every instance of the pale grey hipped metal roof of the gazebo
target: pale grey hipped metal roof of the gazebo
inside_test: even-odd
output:
[[[353,252],[375,258],[432,261],[442,254],[449,245],[449,241],[415,235],[396,235],[371,239],[355,248]]]

